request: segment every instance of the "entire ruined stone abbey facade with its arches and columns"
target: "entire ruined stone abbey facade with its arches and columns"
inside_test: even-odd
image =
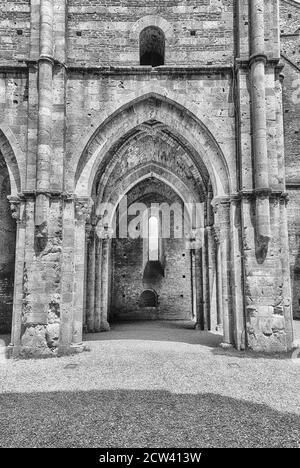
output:
[[[298,2],[2,3],[11,355],[80,351],[83,333],[124,320],[189,320],[239,350],[292,349]]]

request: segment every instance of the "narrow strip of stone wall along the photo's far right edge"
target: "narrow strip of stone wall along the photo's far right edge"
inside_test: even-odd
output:
[[[285,171],[294,317],[300,318],[300,5],[280,3]]]

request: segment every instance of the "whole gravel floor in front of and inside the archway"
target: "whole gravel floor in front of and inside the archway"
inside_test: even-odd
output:
[[[2,447],[300,447],[300,365],[224,351],[186,324],[88,335],[0,368]],[[0,356],[1,357],[1,356]]]

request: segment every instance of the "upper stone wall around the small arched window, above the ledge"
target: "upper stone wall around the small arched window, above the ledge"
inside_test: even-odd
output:
[[[128,0],[105,4],[68,2],[68,59],[76,64],[139,65],[142,18],[155,15],[167,25],[166,65],[230,63],[233,1]],[[154,21],[154,24],[160,26]],[[141,26],[142,25],[142,26]]]

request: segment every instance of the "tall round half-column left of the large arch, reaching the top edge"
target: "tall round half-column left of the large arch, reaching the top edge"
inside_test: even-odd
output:
[[[47,233],[52,157],[53,0],[40,2],[40,56],[38,59],[38,148],[35,225]]]

